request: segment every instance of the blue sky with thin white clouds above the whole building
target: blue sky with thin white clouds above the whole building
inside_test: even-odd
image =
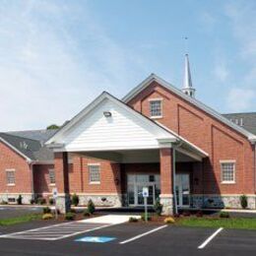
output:
[[[0,0],[0,129],[62,124],[151,73],[181,88],[184,36],[196,97],[255,111],[253,0]]]

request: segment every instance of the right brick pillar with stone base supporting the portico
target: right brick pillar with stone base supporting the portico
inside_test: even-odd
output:
[[[160,203],[162,215],[173,215],[173,151],[160,149]]]

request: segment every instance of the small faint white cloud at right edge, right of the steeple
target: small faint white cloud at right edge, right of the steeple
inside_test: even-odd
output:
[[[230,111],[243,111],[255,103],[255,92],[250,89],[233,88],[229,91],[226,102]]]

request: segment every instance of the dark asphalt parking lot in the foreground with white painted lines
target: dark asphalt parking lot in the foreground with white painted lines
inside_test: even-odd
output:
[[[38,227],[34,224],[33,228]],[[17,228],[28,230],[32,224],[17,225]],[[12,227],[5,233],[17,230]],[[0,255],[255,255],[256,231],[249,230],[223,229],[199,249],[215,232],[213,228],[116,224],[54,241],[0,238]],[[104,243],[96,239],[95,242],[76,241],[83,237],[114,239]]]

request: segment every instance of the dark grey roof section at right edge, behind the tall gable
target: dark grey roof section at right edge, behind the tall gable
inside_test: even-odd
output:
[[[256,112],[228,113],[223,114],[223,116],[232,122],[237,120],[238,124],[245,130],[256,135]]]

